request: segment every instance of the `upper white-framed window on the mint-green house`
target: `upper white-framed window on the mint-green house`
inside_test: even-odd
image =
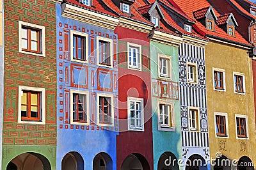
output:
[[[171,56],[164,56],[162,54],[159,57],[159,76],[160,77],[170,77],[170,66],[171,66]]]

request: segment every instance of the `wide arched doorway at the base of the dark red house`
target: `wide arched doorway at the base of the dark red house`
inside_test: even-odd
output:
[[[136,169],[136,170],[150,170],[150,166],[143,155],[140,155],[139,153],[132,153],[131,155],[128,155],[128,157],[125,158],[121,170],[130,170],[130,169]]]

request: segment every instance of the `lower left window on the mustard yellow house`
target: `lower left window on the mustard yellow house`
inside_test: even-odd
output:
[[[228,118],[227,113],[214,112],[216,137],[227,137],[228,136],[227,118]]]

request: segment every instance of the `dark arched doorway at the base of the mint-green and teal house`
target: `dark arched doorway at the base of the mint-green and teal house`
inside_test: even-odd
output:
[[[177,164],[177,161],[178,161],[177,158],[172,152],[166,151],[160,156],[158,160],[157,170],[165,170],[165,169],[178,170],[179,166]]]

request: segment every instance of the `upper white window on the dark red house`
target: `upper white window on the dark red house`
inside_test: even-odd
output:
[[[129,68],[141,70],[141,45],[127,43],[129,50]]]

